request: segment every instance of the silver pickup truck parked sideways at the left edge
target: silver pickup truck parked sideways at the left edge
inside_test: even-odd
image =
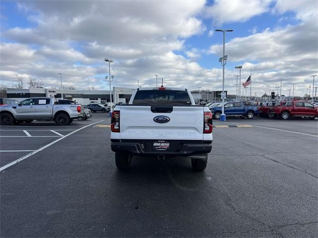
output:
[[[14,105],[0,107],[1,125],[32,120],[54,120],[59,125],[72,123],[82,117],[83,107],[75,104],[59,104],[56,98],[28,98]]]

